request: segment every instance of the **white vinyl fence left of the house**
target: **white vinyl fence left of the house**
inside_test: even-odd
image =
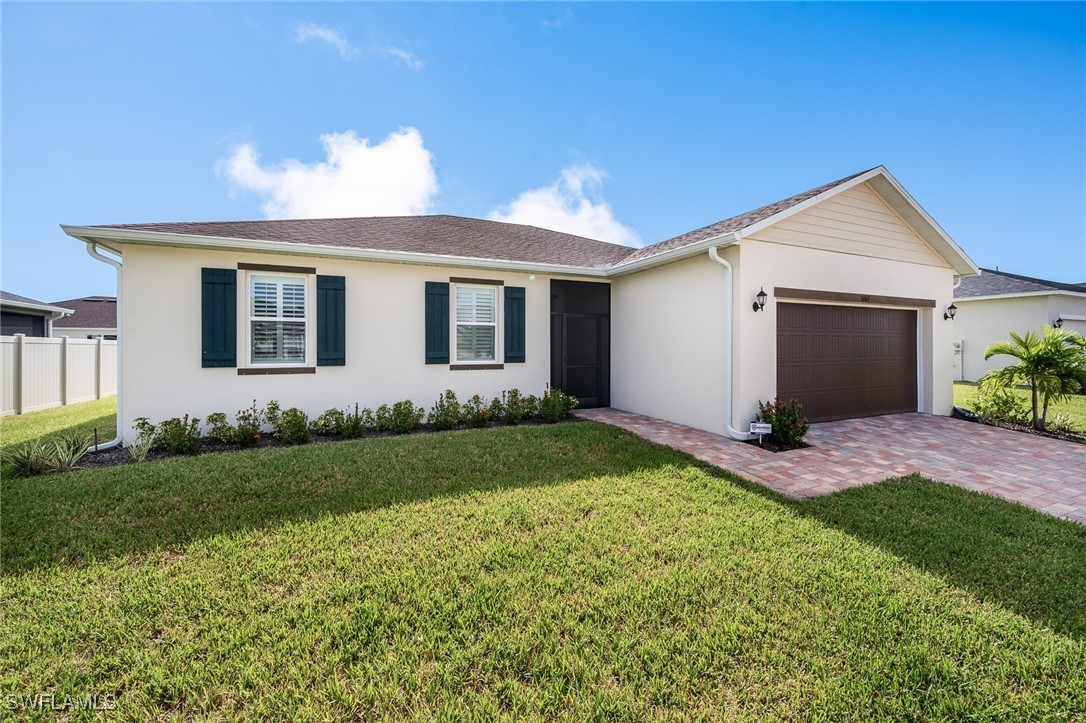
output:
[[[117,342],[0,337],[0,416],[117,393]]]

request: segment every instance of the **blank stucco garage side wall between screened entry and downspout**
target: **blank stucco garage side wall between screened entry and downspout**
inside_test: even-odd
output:
[[[615,279],[611,406],[721,432],[724,310],[724,271],[708,255]]]

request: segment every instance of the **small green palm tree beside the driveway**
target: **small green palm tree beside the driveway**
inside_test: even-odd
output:
[[[1050,402],[1059,402],[1086,389],[1086,340],[1070,329],[1046,327],[1041,334],[1032,331],[1010,341],[988,345],[984,358],[1006,354],[1018,363],[993,369],[983,384],[1012,386],[1027,384],[1033,397],[1033,427],[1045,429]]]

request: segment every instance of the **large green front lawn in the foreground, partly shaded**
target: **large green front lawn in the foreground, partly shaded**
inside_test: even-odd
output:
[[[1086,527],[592,422],[8,481],[2,693],[124,720],[1082,720]]]

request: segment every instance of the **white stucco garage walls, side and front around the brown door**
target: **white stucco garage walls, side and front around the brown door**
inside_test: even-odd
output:
[[[952,330],[943,313],[951,302],[954,271],[757,239],[723,252],[734,269],[731,419],[747,429],[758,402],[776,393],[776,287],[853,294],[930,299],[918,314],[918,408],[950,413]],[[755,295],[770,299],[755,313]],[[724,270],[707,254],[613,281],[611,406],[697,429],[724,431]],[[823,302],[820,302],[823,303]],[[858,304],[871,306],[871,304]],[[894,308],[901,308],[895,306]]]

